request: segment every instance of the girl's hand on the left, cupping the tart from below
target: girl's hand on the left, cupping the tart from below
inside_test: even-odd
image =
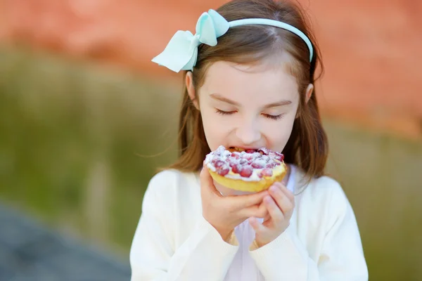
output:
[[[264,218],[267,208],[262,203],[267,190],[250,195],[222,196],[215,188],[214,181],[208,169],[203,167],[200,172],[200,196],[203,206],[203,217],[222,236],[224,241],[229,238],[236,226],[253,217]]]

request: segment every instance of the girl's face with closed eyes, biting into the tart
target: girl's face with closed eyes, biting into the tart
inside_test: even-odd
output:
[[[285,65],[210,65],[196,94],[211,150],[219,145],[283,150],[299,105],[298,84]],[[186,86],[193,98],[189,80],[190,75]]]

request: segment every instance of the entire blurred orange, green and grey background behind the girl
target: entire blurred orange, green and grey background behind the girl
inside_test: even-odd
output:
[[[0,280],[129,280],[143,192],[177,156],[181,74],[151,58],[224,2],[0,0]],[[422,280],[422,1],[300,2],[370,280]]]

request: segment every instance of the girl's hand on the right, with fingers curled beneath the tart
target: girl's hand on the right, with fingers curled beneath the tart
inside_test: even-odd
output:
[[[295,197],[286,186],[276,182],[269,188],[269,195],[264,197],[262,205],[269,213],[263,223],[259,223],[255,217],[249,218],[250,226],[255,230],[258,247],[273,241],[288,228],[295,207]]]

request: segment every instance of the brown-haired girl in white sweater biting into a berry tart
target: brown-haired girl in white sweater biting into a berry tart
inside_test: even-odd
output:
[[[185,71],[181,155],[144,195],[132,280],[368,280],[352,207],[324,176],[319,50],[300,8],[231,1],[153,61]],[[283,152],[288,175],[235,194],[202,169],[219,145]]]

